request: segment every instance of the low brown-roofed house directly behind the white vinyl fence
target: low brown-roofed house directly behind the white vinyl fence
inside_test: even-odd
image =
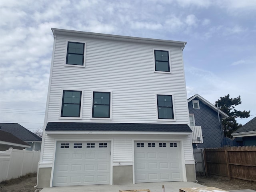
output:
[[[13,134],[0,130],[0,151],[6,151],[10,147],[14,149],[24,149],[30,148],[30,145]]]

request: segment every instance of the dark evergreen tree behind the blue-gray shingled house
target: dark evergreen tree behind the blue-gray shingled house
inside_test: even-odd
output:
[[[235,109],[235,106],[241,104],[241,97],[238,96],[236,98],[230,98],[229,94],[224,97],[220,97],[218,101],[215,102],[215,106],[217,106],[224,113],[228,114],[228,117],[222,119],[222,126],[224,130],[224,136],[232,138],[231,133],[237,130],[242,126],[242,124],[238,124],[236,122],[236,118],[248,118],[250,117],[250,111],[238,111]]]

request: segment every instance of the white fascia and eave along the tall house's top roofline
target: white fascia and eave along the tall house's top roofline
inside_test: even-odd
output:
[[[111,35],[111,34],[84,32],[84,31],[57,29],[57,28],[52,28],[52,33],[53,33],[54,37],[55,37],[55,35],[66,35],[66,36],[81,36],[81,37],[88,37],[88,38],[103,38],[103,39],[109,39],[109,40],[144,42],[144,43],[151,43],[151,44],[166,44],[169,46],[179,46],[183,49],[187,43],[187,42],[183,42],[183,41],[161,40],[161,39],[131,37],[131,36],[122,36],[122,35]]]

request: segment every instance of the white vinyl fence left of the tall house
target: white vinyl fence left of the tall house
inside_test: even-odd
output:
[[[36,173],[40,151],[28,151],[9,148],[0,151],[0,182],[18,178],[27,173]]]

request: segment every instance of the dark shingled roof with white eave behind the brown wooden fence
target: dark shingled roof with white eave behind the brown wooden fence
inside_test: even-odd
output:
[[[256,136],[256,117],[231,134],[233,137]]]

